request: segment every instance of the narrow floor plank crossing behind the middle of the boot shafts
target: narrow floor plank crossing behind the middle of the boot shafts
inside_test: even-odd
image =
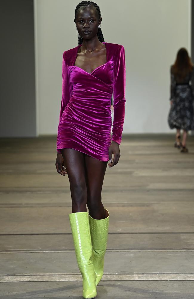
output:
[[[71,234],[1,235],[0,239],[0,252],[74,248]],[[107,249],[194,249],[194,233],[110,233]]]

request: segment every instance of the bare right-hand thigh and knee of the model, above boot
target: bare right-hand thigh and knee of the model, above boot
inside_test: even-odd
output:
[[[101,202],[101,190],[107,162],[85,155],[85,169],[89,215],[94,219],[104,219],[107,214]]]

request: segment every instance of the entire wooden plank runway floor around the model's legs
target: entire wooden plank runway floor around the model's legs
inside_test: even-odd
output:
[[[0,141],[0,298],[82,298],[56,136]],[[107,168],[98,299],[194,297],[194,138],[188,154],[173,144],[173,135],[124,135],[119,164]]]

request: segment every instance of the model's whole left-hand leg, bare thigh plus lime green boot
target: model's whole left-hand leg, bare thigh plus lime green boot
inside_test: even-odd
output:
[[[75,149],[61,150],[70,181],[72,213],[69,214],[76,259],[83,279],[83,298],[95,298],[96,273],[92,260],[84,154]]]

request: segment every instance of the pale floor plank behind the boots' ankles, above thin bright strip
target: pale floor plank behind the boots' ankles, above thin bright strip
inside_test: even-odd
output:
[[[193,250],[107,251],[104,273],[192,274]],[[118,262],[119,261],[119,262]],[[74,251],[1,253],[0,274],[78,273]]]

